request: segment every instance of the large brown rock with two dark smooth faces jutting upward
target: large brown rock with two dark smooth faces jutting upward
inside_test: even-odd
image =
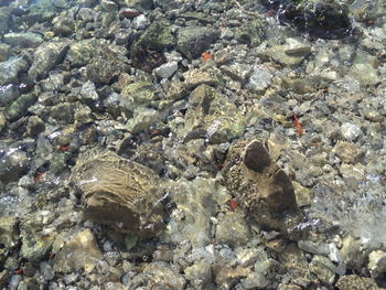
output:
[[[292,182],[260,141],[232,146],[223,174],[227,189],[257,223],[296,238],[302,217]]]

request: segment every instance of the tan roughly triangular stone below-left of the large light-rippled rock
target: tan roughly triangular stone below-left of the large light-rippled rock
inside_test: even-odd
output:
[[[73,272],[84,270],[92,272],[103,255],[92,230],[84,229],[65,243],[55,255],[53,269],[56,272]]]

